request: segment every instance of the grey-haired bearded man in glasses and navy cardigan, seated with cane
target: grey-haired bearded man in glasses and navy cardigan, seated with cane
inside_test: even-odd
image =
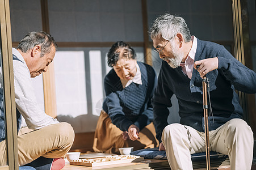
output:
[[[226,154],[231,169],[250,169],[253,132],[242,120],[236,90],[256,92],[256,74],[219,44],[190,35],[183,18],[165,14],[150,28],[153,46],[163,59],[152,99],[156,137],[171,169],[192,169],[191,154],[205,151],[202,77],[207,74],[213,115],[209,149]],[[199,66],[196,70],[196,66]],[[179,103],[180,124],[168,125],[171,96]]]

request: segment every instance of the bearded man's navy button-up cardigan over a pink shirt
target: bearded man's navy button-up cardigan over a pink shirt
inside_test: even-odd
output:
[[[219,68],[207,74],[213,111],[213,117],[209,118],[209,130],[217,129],[232,118],[242,118],[243,111],[235,88],[246,93],[256,92],[256,74],[253,70],[237,61],[224,46],[198,39],[195,61],[212,57],[218,57]],[[171,107],[173,94],[178,99],[180,123],[204,131],[202,90],[202,78],[198,71],[194,69],[189,79],[181,67],[172,69],[167,62],[162,62],[152,99],[156,137],[160,142],[162,131],[168,125],[167,108]]]

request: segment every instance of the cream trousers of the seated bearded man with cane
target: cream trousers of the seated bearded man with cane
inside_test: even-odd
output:
[[[205,152],[205,134],[181,124],[166,126],[162,143],[172,170],[193,169],[191,154]],[[209,148],[210,151],[228,155],[231,170],[251,169],[253,132],[244,120],[234,118],[216,130],[209,131]]]

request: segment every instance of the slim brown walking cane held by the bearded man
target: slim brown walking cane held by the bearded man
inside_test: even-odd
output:
[[[196,66],[198,69],[200,65]],[[209,126],[208,126],[208,101],[207,101],[207,85],[209,84],[209,79],[206,75],[203,76],[203,109],[204,109],[204,131],[205,131],[205,152],[206,152],[206,168],[211,169],[210,165],[210,151],[209,151]]]

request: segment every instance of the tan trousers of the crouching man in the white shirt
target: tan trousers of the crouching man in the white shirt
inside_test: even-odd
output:
[[[74,130],[66,122],[45,126],[39,130],[18,136],[19,165],[24,165],[44,156],[61,158],[71,148]],[[6,141],[0,143],[0,165],[6,165]]]

